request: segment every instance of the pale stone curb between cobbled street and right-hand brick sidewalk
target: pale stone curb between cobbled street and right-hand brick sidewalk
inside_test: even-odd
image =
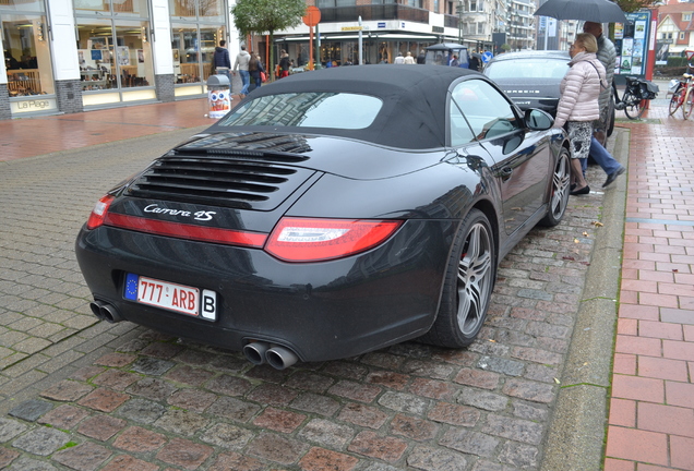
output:
[[[609,148],[626,167],[627,130],[614,129]],[[617,145],[619,142],[619,145]],[[626,178],[618,179],[602,201],[606,224],[596,246],[578,307],[557,407],[550,423],[540,471],[602,469],[612,374],[617,305],[622,266]],[[618,224],[621,221],[621,224]]]

